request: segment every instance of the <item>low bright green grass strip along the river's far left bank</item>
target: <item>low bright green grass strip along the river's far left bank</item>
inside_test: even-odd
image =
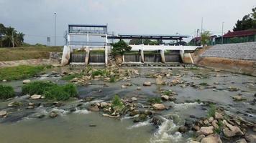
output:
[[[50,66],[14,66],[0,68],[0,80],[18,80],[33,77]]]

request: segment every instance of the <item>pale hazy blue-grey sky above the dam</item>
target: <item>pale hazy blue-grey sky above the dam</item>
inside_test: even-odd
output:
[[[54,44],[54,13],[57,45],[68,24],[108,24],[114,34],[186,34],[196,29],[221,35],[249,14],[255,0],[0,0],[0,23],[25,34],[29,44]]]

